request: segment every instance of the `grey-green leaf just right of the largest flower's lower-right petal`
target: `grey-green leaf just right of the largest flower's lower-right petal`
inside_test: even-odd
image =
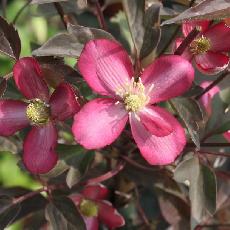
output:
[[[170,105],[184,122],[192,141],[200,148],[199,125],[203,122],[203,112],[195,100],[177,97],[170,100]]]

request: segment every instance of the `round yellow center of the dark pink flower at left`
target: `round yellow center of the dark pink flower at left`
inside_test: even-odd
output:
[[[27,106],[26,116],[32,123],[42,125],[49,121],[50,108],[42,100],[35,99]]]

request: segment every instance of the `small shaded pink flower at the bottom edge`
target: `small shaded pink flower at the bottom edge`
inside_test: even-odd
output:
[[[124,218],[117,212],[112,204],[105,200],[108,197],[108,189],[102,184],[87,185],[81,194],[71,195],[84,217],[87,230],[98,230],[99,221],[114,229],[125,224]]]

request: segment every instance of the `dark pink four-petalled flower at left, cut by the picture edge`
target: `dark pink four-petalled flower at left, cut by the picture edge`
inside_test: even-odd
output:
[[[26,101],[0,100],[0,135],[13,135],[31,124],[23,144],[23,162],[31,173],[46,173],[57,163],[55,122],[71,117],[80,106],[67,83],[61,83],[49,96],[39,63],[32,57],[17,61],[13,73]]]

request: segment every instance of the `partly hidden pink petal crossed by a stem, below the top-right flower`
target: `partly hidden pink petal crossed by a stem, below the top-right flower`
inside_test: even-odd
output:
[[[205,89],[208,87],[212,82],[205,81],[200,86]],[[205,93],[201,99],[200,102],[206,109],[207,114],[210,116],[212,113],[212,98],[220,91],[220,88],[218,86],[214,86],[211,90],[209,90],[207,93]]]

